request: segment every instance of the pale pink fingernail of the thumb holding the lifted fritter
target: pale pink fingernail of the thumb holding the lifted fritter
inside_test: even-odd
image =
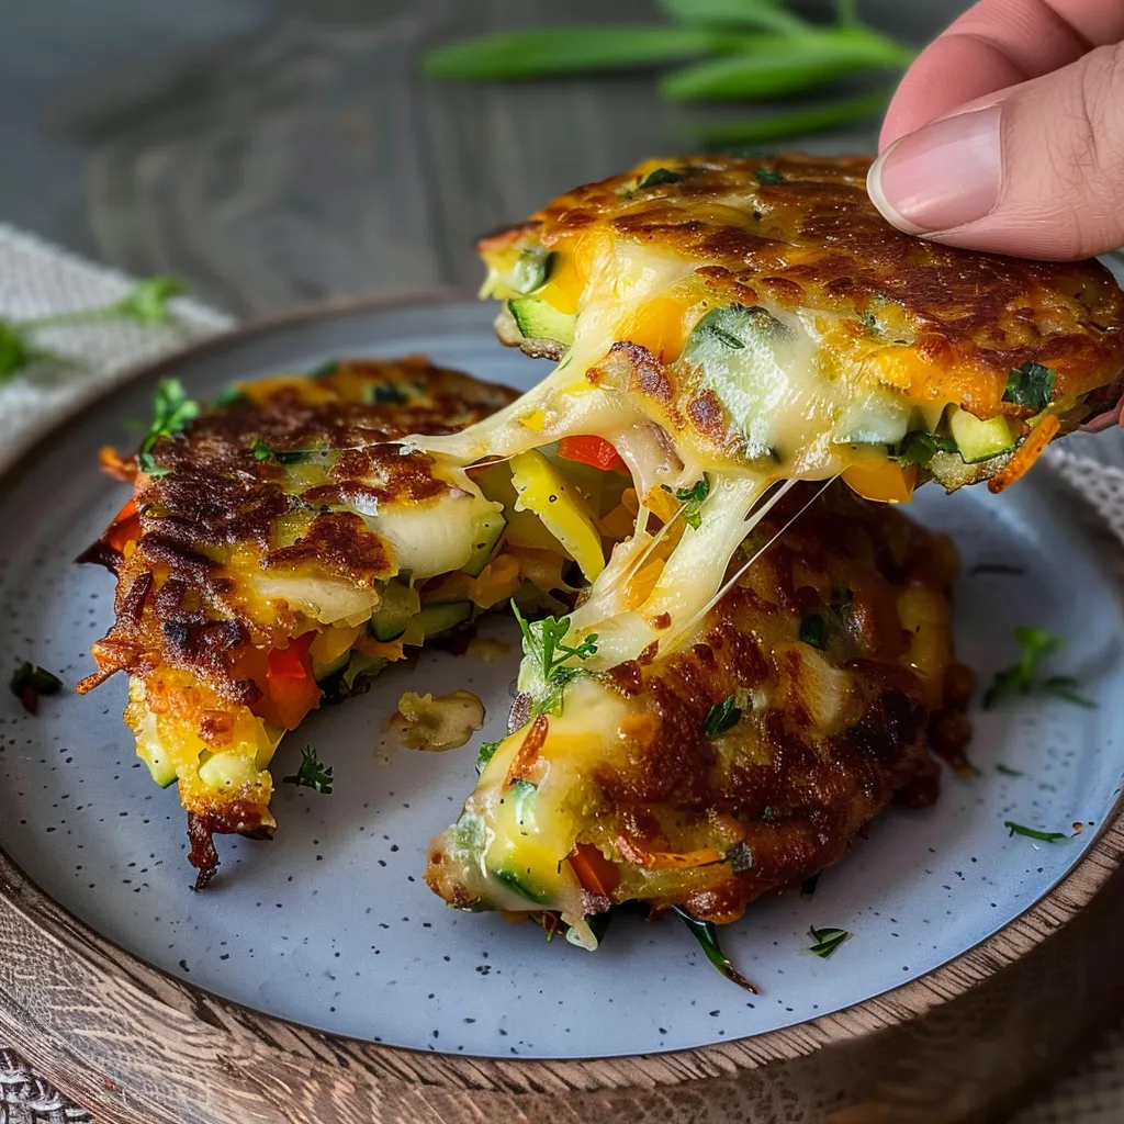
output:
[[[999,201],[1001,103],[958,114],[901,137],[874,161],[867,190],[908,234],[951,230],[989,215]]]

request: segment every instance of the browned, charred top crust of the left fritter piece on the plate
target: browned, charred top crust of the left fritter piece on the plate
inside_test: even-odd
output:
[[[160,441],[155,460],[171,471],[137,477],[135,547],[125,558],[107,532],[82,556],[118,578],[117,622],[96,645],[102,667],[143,676],[166,664],[200,676],[230,701],[252,703],[241,652],[268,643],[271,631],[283,642],[288,623],[259,619],[233,596],[238,571],[303,566],[357,584],[389,577],[391,545],[354,510],[333,508],[374,511],[436,499],[454,486],[430,471],[425,454],[378,443],[448,433],[514,398],[506,387],[418,356],[350,360],[317,379],[247,384],[244,397],[206,413],[183,436]],[[255,442],[280,456],[259,459]],[[283,463],[287,453],[308,460]],[[294,541],[281,545],[287,526]]]

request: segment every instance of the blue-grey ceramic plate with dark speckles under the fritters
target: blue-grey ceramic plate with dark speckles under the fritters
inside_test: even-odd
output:
[[[426,352],[528,386],[543,366],[499,348],[489,319],[474,302],[326,312],[197,348],[161,373],[207,397],[235,378],[310,370],[332,355]],[[87,650],[110,620],[112,586],[71,560],[125,496],[96,471],[98,447],[135,439],[129,423],[149,415],[154,381],[85,410],[0,481],[7,661],[31,659],[67,685],[91,669]],[[155,788],[133,755],[124,682],[51,699],[37,717],[4,692],[0,846],[67,910],[173,977],[375,1042],[589,1058],[728,1041],[851,1006],[952,960],[1045,895],[1114,814],[1124,772],[1109,705],[1124,690],[1117,579],[1072,497],[1037,471],[1001,497],[925,489],[913,514],[961,549],[957,643],[980,683],[1015,659],[1012,629],[1035,624],[1067,637],[1052,670],[1077,677],[1100,706],[1028,697],[977,708],[979,777],[946,772],[935,808],[876,821],[809,900],[761,901],[724,933],[760,997],[715,973],[672,922],[619,924],[589,954],[546,944],[534,925],[451,912],[425,887],[426,842],[471,788],[475,749],[409,753],[384,741],[383,723],[404,689],[468,687],[488,707],[481,736],[497,736],[517,662],[501,619],[488,628],[511,642],[505,663],[427,653],[288,740],[275,770],[291,771],[312,743],[335,769],[334,795],[279,786],[275,841],[221,839],[221,873],[205,894],[189,889],[175,791]],[[986,569],[995,564],[1021,572]],[[1066,839],[1010,837],[1005,821]],[[821,960],[807,951],[813,925],[853,936]]]

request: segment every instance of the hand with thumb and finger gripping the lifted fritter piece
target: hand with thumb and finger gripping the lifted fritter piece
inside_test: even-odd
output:
[[[934,242],[1053,261],[1124,245],[1124,0],[981,0],[898,88],[878,209]]]

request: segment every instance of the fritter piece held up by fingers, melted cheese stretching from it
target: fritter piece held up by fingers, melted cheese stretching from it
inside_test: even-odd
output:
[[[901,234],[867,196],[869,164],[649,161],[484,238],[501,338],[561,362],[434,447],[472,461],[593,435],[643,483],[842,472],[871,499],[931,477],[999,490],[1116,404],[1124,294],[1096,262]]]

